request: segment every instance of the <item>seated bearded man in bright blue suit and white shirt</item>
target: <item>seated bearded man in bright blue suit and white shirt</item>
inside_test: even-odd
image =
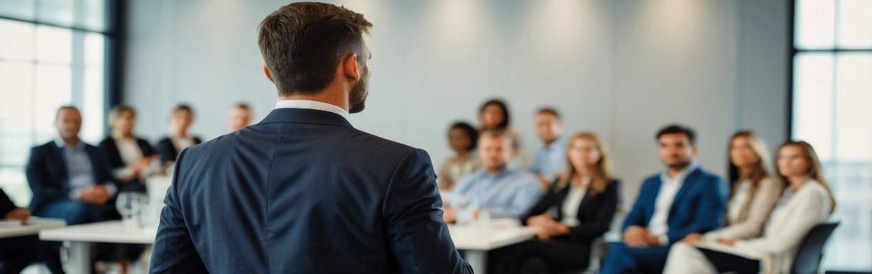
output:
[[[601,274],[661,273],[671,244],[720,225],[726,184],[696,163],[693,130],[667,126],[657,132],[657,145],[667,170],[642,184],[623,242],[610,244]]]

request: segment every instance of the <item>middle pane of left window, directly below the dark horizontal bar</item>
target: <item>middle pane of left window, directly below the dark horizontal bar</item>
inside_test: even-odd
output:
[[[50,26],[37,26],[37,61],[70,63],[72,30]]]

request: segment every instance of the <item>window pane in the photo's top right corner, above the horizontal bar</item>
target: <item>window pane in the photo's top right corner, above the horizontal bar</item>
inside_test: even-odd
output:
[[[872,1],[839,1],[839,47],[872,49]]]

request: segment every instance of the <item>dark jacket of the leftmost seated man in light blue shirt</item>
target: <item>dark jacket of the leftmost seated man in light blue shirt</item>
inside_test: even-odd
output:
[[[94,184],[115,184],[106,152],[91,144],[85,144],[85,153],[91,159]],[[64,156],[54,141],[33,147],[31,159],[27,162],[27,184],[31,185],[33,198],[30,211],[41,216],[45,206],[69,199],[69,175]]]

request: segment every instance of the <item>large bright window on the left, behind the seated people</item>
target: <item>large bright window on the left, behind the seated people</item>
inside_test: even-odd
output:
[[[81,137],[105,134],[113,36],[105,0],[0,1],[0,187],[30,203],[24,177],[30,147],[57,136],[61,105],[82,110]]]

